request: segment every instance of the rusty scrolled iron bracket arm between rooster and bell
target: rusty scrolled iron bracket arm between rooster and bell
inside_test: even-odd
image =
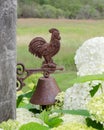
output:
[[[50,73],[55,72],[56,70],[63,70],[62,67],[57,68],[39,68],[39,69],[26,69],[24,64],[17,64],[17,91],[21,90],[25,86],[24,80],[30,75],[43,72],[45,78],[48,78]]]

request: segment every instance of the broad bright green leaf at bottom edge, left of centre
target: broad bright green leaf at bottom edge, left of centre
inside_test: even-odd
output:
[[[49,130],[49,128],[38,123],[30,122],[22,125],[19,130]]]

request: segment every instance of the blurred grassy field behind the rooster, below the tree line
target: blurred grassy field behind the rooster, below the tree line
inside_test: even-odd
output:
[[[57,28],[61,34],[61,49],[54,57],[55,63],[65,70],[53,75],[65,90],[68,81],[76,77],[74,55],[78,47],[87,39],[104,36],[104,20],[66,20],[66,19],[18,19],[17,21],[17,62],[27,68],[39,68],[42,60],[28,52],[29,42],[36,36],[50,40],[50,28]]]

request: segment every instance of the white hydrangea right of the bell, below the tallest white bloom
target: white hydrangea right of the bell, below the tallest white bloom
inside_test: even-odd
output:
[[[85,109],[91,95],[89,93],[92,87],[90,82],[74,84],[65,92],[64,109]]]

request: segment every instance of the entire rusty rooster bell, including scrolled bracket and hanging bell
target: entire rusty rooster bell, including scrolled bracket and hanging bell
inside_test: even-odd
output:
[[[29,44],[29,52],[33,55],[44,58],[41,68],[26,69],[21,63],[17,64],[17,90],[25,85],[24,80],[33,73],[42,72],[43,77],[38,80],[38,84],[30,102],[38,105],[51,105],[55,103],[55,97],[60,92],[56,81],[50,77],[56,70],[63,70],[63,67],[57,67],[52,57],[60,50],[60,33],[57,29],[49,30],[51,33],[50,42],[47,43],[42,37],[34,38]]]

